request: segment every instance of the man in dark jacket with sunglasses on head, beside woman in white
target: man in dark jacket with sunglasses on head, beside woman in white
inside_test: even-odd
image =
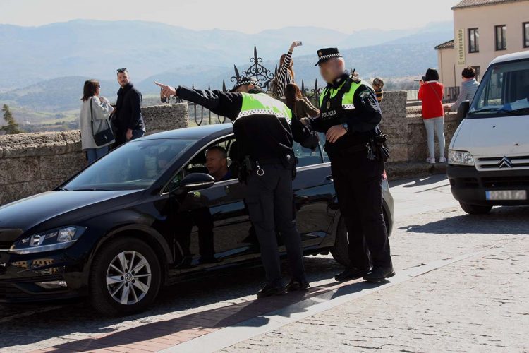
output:
[[[145,124],[141,111],[143,97],[130,82],[126,68],[118,68],[118,83],[121,88],[118,90],[116,112],[112,120],[116,133],[114,148],[145,135]]]

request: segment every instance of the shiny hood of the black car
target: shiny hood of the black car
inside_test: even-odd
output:
[[[47,191],[0,207],[0,229],[21,229],[23,232],[51,220],[96,203],[138,193],[125,191]],[[101,210],[104,212],[104,210]]]

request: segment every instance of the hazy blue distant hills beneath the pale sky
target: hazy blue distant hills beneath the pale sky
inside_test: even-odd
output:
[[[450,22],[409,30],[360,30],[351,34],[315,27],[257,34],[188,30],[142,21],[73,20],[39,27],[0,25],[0,104],[45,112],[77,109],[83,82],[97,78],[102,94],[115,99],[116,68],[127,67],[144,95],[159,92],[153,80],[170,84],[231,87],[233,64],[250,66],[253,47],[269,69],[292,40],[296,81],[314,85],[316,50],[339,47],[363,77],[419,76],[437,66],[434,45],[453,37]],[[321,83],[320,83],[321,85]]]

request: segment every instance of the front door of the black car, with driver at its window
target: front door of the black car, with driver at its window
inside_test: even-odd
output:
[[[227,136],[207,145],[184,166],[181,173],[207,172],[204,157],[207,148],[218,145],[230,150],[233,141],[233,136]],[[176,222],[176,241],[190,259],[178,267],[180,274],[258,256],[255,242],[248,237],[251,224],[244,204],[245,186],[236,179],[235,170],[230,172],[233,178],[218,181],[208,189],[190,191],[181,201]],[[211,258],[202,261],[205,253],[212,253],[208,250],[211,247],[213,261],[207,261]]]

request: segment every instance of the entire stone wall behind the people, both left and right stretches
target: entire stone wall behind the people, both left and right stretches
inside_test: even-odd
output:
[[[381,107],[381,127],[389,135],[391,150],[388,169],[424,162],[427,145],[420,107],[406,107],[406,92],[385,92]],[[185,103],[143,107],[142,114],[147,133],[184,128],[189,123]],[[456,114],[447,113],[445,119],[448,148],[456,130]],[[78,130],[0,136],[0,205],[53,189],[85,164]]]

